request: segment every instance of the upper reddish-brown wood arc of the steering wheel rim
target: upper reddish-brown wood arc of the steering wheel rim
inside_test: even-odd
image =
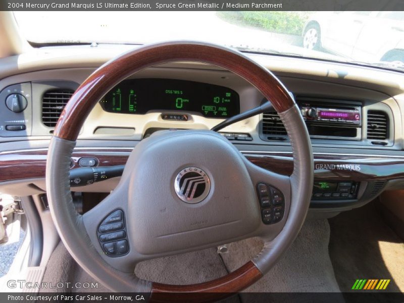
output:
[[[278,112],[295,105],[286,88],[270,71],[240,52],[203,42],[164,42],[125,53],[91,74],[69,100],[54,135],[75,141],[92,108],[115,85],[140,70],[178,61],[207,63],[234,72],[260,90]]]

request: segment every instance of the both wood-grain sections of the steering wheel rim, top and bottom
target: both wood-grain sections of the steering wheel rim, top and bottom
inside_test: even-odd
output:
[[[65,107],[56,126],[54,137],[75,142],[92,108],[115,85],[145,68],[180,61],[212,64],[239,75],[261,91],[268,100],[271,100],[278,113],[286,112],[295,107],[294,100],[282,83],[266,68],[241,53],[226,47],[202,42],[165,42],[130,51],[107,62],[91,74],[76,90]],[[54,148],[49,146],[49,153],[51,153],[51,147]],[[51,169],[53,165],[51,162],[52,160],[48,160],[47,173],[49,172],[48,169]],[[47,186],[54,186],[52,180],[48,180],[48,178]],[[55,202],[53,202],[57,199],[57,194],[50,188],[48,195],[52,216],[57,221],[60,215],[58,215],[58,210],[54,206]],[[301,226],[301,222],[298,224]],[[69,249],[70,243],[67,236],[63,235],[63,228],[58,223],[56,225],[62,240]],[[71,254],[74,255],[72,250],[69,249]],[[92,273],[92,275],[94,276],[95,274]],[[167,297],[162,295],[164,293],[205,292],[205,295],[197,294],[192,301],[212,301],[226,296],[227,293],[241,291],[260,279],[262,275],[256,264],[249,261],[236,271],[210,282],[192,285],[151,283],[151,300],[168,301]],[[222,293],[222,295],[218,293]],[[181,296],[177,297],[176,300],[181,301]],[[183,298],[183,301],[189,300],[189,296]]]

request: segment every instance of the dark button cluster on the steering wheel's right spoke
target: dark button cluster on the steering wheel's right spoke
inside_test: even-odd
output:
[[[261,219],[264,224],[273,224],[282,220],[285,209],[285,197],[282,192],[266,183],[257,184],[261,207]]]

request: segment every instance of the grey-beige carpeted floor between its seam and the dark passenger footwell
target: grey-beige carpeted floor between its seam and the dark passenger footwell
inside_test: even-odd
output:
[[[307,220],[282,259],[247,292],[339,292],[328,254],[327,220]],[[222,258],[229,271],[255,257],[262,249],[257,238],[228,245]]]

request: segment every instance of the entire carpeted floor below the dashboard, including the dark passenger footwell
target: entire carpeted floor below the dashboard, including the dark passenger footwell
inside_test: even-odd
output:
[[[229,252],[222,255],[210,248],[142,262],[135,273],[140,278],[161,283],[205,282],[244,264],[261,250],[262,242],[251,238],[231,243],[228,248]],[[43,281],[92,281],[71,259],[62,242],[47,268]],[[340,290],[350,291],[356,279],[391,279],[389,291],[404,290],[403,241],[384,223],[375,204],[344,212],[328,221],[307,220],[285,256],[245,292],[272,292],[276,301],[281,292],[306,292],[309,293],[304,300],[307,302],[312,301],[310,293],[332,292],[336,301],[335,294]],[[85,291],[107,289],[99,284],[98,289]],[[229,302],[246,302],[245,297],[235,296]],[[301,301],[301,296],[296,300]]]

